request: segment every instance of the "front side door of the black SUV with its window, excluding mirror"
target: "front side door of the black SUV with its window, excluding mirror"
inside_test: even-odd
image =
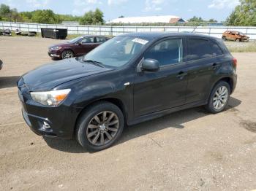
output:
[[[187,64],[184,62],[184,39],[165,39],[153,45],[144,59],[159,61],[159,71],[135,74],[135,117],[159,112],[185,103]]]

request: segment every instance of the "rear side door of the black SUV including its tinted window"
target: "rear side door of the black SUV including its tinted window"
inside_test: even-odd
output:
[[[187,104],[206,101],[219,69],[219,55],[223,52],[208,39],[187,38]]]

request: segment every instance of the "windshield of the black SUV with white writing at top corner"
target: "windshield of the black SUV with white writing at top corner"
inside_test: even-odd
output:
[[[97,61],[112,68],[124,66],[148,43],[146,39],[116,36],[83,56],[83,61]]]

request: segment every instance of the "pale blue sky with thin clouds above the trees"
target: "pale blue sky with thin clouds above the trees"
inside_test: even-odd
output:
[[[0,4],[17,8],[18,12],[52,9],[59,14],[79,16],[98,7],[106,21],[121,15],[176,15],[184,19],[197,16],[224,21],[239,4],[239,0],[0,0]]]

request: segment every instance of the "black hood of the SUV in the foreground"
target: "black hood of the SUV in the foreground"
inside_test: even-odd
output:
[[[110,70],[113,69],[85,63],[78,58],[70,58],[40,66],[23,74],[22,79],[29,91],[46,91],[64,82]]]

